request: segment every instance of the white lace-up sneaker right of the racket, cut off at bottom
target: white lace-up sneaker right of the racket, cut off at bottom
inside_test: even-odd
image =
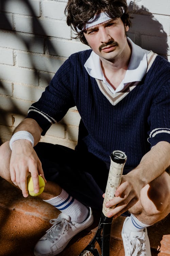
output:
[[[122,239],[125,256],[151,256],[151,248],[147,228],[143,231],[131,231],[128,235],[124,232],[124,226],[130,217],[126,217],[122,228]]]

